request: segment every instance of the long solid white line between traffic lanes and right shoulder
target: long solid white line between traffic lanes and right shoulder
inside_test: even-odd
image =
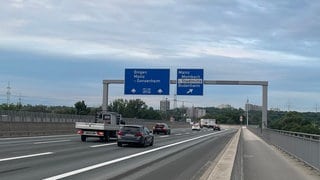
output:
[[[56,176],[48,177],[48,178],[45,178],[44,180],[62,179],[62,178],[65,178],[65,177],[69,177],[69,176],[80,174],[80,173],[83,173],[83,172],[86,172],[86,171],[97,169],[97,168],[100,168],[100,167],[103,167],[103,166],[114,164],[114,163],[117,163],[117,162],[120,162],[120,161],[131,159],[131,158],[134,158],[134,157],[137,157],[137,156],[141,156],[141,155],[148,154],[148,153],[151,153],[151,152],[159,151],[161,149],[173,147],[173,146],[176,146],[176,145],[179,145],[179,144],[183,144],[183,143],[186,143],[186,142],[189,142],[189,141],[194,141],[194,140],[197,140],[197,139],[200,139],[200,138],[211,136],[213,134],[216,134],[216,133],[210,133],[210,134],[198,136],[198,137],[195,137],[195,138],[192,138],[192,139],[187,139],[187,140],[176,142],[176,143],[173,143],[173,144],[161,146],[161,147],[158,147],[158,148],[150,149],[148,151],[143,151],[143,152],[140,152],[140,153],[132,154],[132,155],[129,155],[129,156],[126,156],[126,157],[114,159],[114,160],[111,160],[111,161],[106,161],[106,162],[103,162],[103,163],[100,163],[100,164],[95,164],[95,165],[88,166],[88,167],[85,167],[85,168],[81,168],[81,169],[77,169],[77,170],[74,170],[74,171],[66,172],[64,174],[59,174],[59,175],[56,175]]]

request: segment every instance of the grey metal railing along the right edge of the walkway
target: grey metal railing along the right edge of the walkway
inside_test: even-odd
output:
[[[320,135],[250,127],[255,134],[320,171]],[[262,133],[261,133],[262,132]]]

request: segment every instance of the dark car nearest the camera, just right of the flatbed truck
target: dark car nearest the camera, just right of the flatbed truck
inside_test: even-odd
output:
[[[140,146],[153,146],[154,137],[149,129],[142,125],[124,125],[120,128],[117,135],[117,144],[136,144]]]

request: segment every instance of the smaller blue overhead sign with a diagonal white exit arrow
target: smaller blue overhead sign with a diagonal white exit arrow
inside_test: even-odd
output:
[[[177,95],[203,95],[203,69],[178,69]]]

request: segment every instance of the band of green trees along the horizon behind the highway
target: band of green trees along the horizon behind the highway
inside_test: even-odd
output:
[[[200,118],[214,118],[221,124],[246,124],[246,112],[239,108],[215,108],[207,107],[206,115]],[[45,105],[22,105],[22,104],[2,104],[0,110],[45,112],[56,114],[78,114],[96,115],[101,111],[101,107],[88,107],[84,100],[78,101],[74,107],[68,106],[45,106]],[[126,100],[116,99],[108,105],[108,111],[118,112],[126,118],[185,121],[186,108],[176,108],[167,111],[155,110],[141,99]],[[243,117],[243,122],[240,121]],[[261,111],[249,111],[249,124],[261,125]],[[193,119],[197,121],[198,119]],[[268,111],[268,127],[272,129],[303,132],[310,134],[320,134],[320,113],[315,112],[295,112],[295,111]]]

